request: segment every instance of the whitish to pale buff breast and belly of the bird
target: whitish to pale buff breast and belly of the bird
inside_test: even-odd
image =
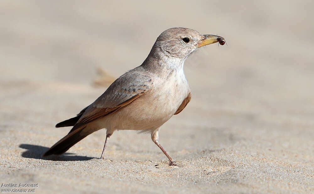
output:
[[[187,97],[189,86],[183,69],[167,78],[155,78],[152,89],[119,111],[102,119],[110,130],[151,130],[160,127]]]

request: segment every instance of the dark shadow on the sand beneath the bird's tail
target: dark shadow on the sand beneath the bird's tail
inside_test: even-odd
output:
[[[49,148],[39,145],[31,144],[20,144],[20,148],[27,149],[21,155],[24,158],[34,158],[34,159],[43,159],[43,160],[53,160],[53,161],[75,161],[75,160],[90,160],[94,159],[88,156],[76,156],[73,153],[64,153],[62,155],[56,156],[46,156],[43,157],[42,154],[45,153]]]

